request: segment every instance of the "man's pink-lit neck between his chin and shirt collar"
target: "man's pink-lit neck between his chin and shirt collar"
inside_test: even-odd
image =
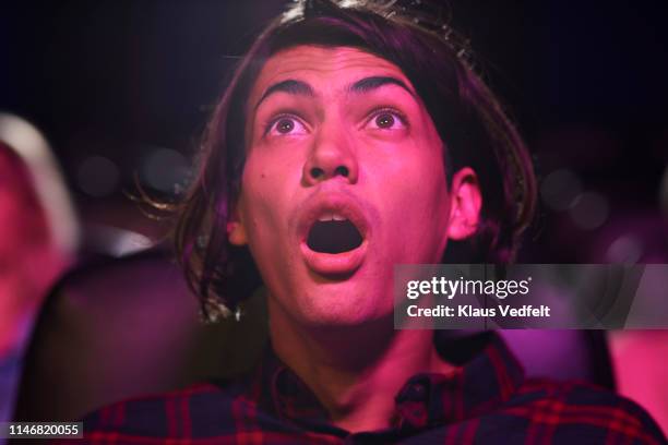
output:
[[[419,372],[450,373],[432,330],[394,330],[393,318],[359,326],[312,327],[270,303],[278,358],[309,386],[334,424],[350,432],[390,426],[394,397]]]

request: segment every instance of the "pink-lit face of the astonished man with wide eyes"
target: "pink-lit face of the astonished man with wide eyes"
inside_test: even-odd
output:
[[[451,219],[443,144],[408,79],[358,49],[298,46],[266,61],[246,112],[228,232],[270,306],[320,326],[391,314],[394,265],[440,262]]]

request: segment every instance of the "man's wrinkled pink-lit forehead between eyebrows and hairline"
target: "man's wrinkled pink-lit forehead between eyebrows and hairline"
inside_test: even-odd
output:
[[[271,86],[285,80],[301,80],[321,92],[336,91],[362,77],[390,76],[413,85],[394,63],[351,47],[301,45],[272,56],[251,89],[250,104],[255,104]]]

